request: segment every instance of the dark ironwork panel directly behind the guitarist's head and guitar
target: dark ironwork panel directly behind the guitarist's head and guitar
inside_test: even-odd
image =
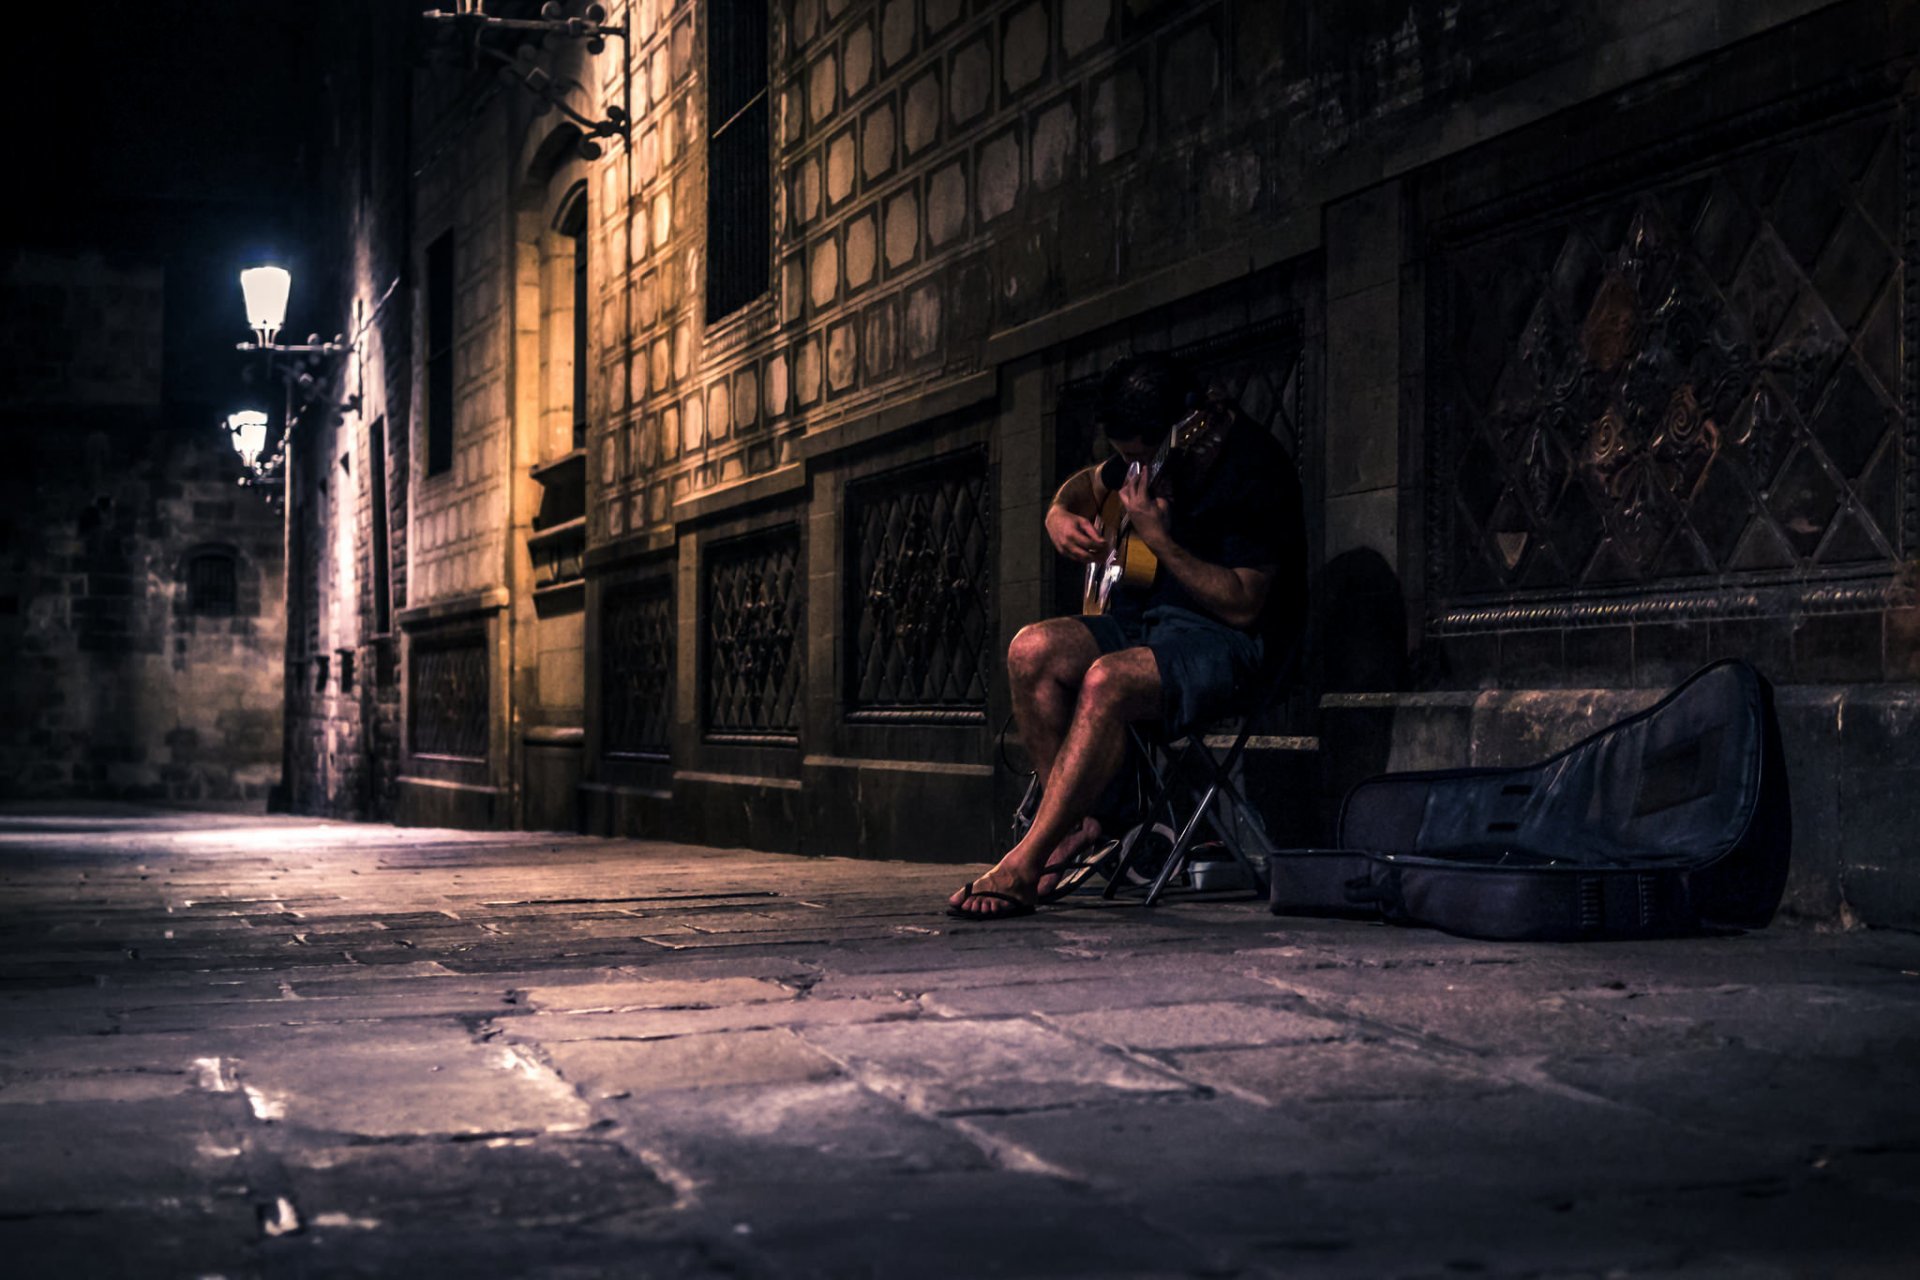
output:
[[[1187,361],[1210,393],[1235,401],[1248,418],[1273,432],[1302,474],[1308,474],[1302,347],[1300,313],[1288,311],[1221,338],[1177,347],[1175,355]],[[1060,390],[1060,405],[1054,415],[1058,480],[1106,459],[1106,441],[1092,424],[1098,390],[1098,372]],[[1058,612],[1079,612],[1083,576],[1077,564],[1056,558],[1054,599]]]

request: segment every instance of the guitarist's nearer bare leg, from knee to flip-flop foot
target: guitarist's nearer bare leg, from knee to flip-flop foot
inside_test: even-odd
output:
[[[1150,649],[1121,649],[1087,668],[1073,708],[1073,723],[1054,756],[1033,825],[1020,844],[1008,850],[1006,858],[973,881],[973,889],[1033,902],[1048,856],[1064,839],[1081,829],[1087,806],[1100,796],[1108,779],[1119,770],[1127,754],[1125,725],[1158,710],[1160,664]],[[1006,912],[1006,904],[968,896],[964,889],[948,902],[983,917]]]

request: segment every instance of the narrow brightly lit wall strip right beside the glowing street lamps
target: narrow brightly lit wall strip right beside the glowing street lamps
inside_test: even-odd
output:
[[[296,401],[284,654],[288,804],[390,819],[401,760],[399,610],[411,583],[413,282],[405,211],[405,15],[342,6],[315,59],[332,67],[305,286],[338,317],[346,355]]]

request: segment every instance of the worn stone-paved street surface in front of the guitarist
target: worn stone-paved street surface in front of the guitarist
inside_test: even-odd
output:
[[[1920,936],[0,816],[13,1276],[1920,1274]]]

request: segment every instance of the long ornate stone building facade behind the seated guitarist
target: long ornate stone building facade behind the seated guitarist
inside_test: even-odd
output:
[[[1306,480],[1273,827],[1741,654],[1795,910],[1920,915],[1910,6],[611,8],[603,52],[426,23],[355,107],[407,194],[342,257],[401,284],[296,510],[365,614],[330,459],[384,420],[394,691],[311,720],[392,770],[361,812],[985,858],[1041,512],[1167,347]]]

